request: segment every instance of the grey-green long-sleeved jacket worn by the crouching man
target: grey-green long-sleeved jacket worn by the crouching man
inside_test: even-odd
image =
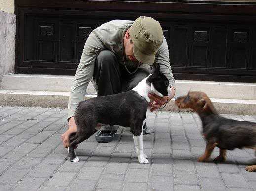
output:
[[[120,64],[124,64],[123,60],[126,64],[129,64],[129,60],[123,58],[123,37],[132,24],[133,21],[113,20],[104,23],[91,32],[85,42],[81,60],[74,77],[69,98],[68,118],[74,116],[79,102],[84,100],[87,86],[93,77],[95,59],[102,50],[108,49],[112,51]],[[170,86],[175,88],[169,61],[169,50],[165,38],[156,53],[155,63],[160,64],[160,72],[169,79]],[[149,68],[149,65],[144,63],[140,67]]]

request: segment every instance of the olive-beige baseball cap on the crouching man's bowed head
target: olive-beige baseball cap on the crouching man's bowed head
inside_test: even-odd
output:
[[[134,43],[133,54],[139,62],[154,63],[155,54],[163,43],[160,23],[151,17],[140,16],[129,30]]]

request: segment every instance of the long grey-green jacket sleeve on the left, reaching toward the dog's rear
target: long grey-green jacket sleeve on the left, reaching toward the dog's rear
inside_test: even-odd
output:
[[[79,102],[84,100],[87,86],[93,77],[95,59],[104,49],[106,49],[105,45],[92,31],[84,44],[81,60],[74,77],[69,97],[68,119],[74,116]]]

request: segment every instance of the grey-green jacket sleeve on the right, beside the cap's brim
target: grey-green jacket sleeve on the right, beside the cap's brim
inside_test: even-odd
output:
[[[164,74],[168,80],[169,85],[176,89],[173,72],[171,70],[171,64],[169,59],[169,50],[166,39],[164,38],[163,44],[159,47],[155,55],[155,63],[160,65],[160,72]]]

